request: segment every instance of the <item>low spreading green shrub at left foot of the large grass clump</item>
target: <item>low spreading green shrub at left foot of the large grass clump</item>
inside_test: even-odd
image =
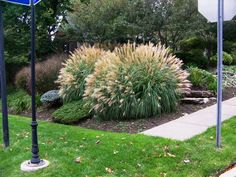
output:
[[[55,122],[72,124],[89,117],[91,115],[90,106],[89,104],[86,104],[84,100],[74,101],[63,105],[52,115]]]

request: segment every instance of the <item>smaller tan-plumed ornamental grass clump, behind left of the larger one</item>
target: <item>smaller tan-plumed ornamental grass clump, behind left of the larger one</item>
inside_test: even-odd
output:
[[[82,99],[85,78],[93,72],[95,62],[104,54],[102,49],[82,46],[63,64],[57,83],[65,103]]]

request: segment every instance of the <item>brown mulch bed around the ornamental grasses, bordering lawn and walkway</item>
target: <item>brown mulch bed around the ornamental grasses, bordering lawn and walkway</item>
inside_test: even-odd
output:
[[[236,96],[236,88],[227,88],[224,90],[223,98],[224,100],[230,99]],[[125,132],[125,133],[139,133],[144,130],[153,128],[155,126],[167,123],[169,121],[178,119],[185,114],[191,114],[200,109],[206,108],[208,106],[214,105],[216,101],[210,101],[204,105],[192,105],[192,104],[181,104],[178,110],[171,114],[163,114],[160,117],[153,117],[149,119],[138,119],[138,120],[126,120],[126,121],[100,121],[95,118],[86,119],[78,122],[75,126],[80,126],[95,130],[104,130],[111,132]],[[37,111],[37,116],[41,120],[52,120],[52,113],[55,109],[45,109],[40,108]],[[21,115],[31,116],[30,112],[25,112]]]

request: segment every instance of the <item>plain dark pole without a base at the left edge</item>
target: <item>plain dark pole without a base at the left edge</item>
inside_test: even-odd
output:
[[[7,110],[7,88],[6,72],[4,60],[4,31],[3,31],[3,6],[0,2],[0,77],[1,77],[1,98],[2,98],[2,126],[4,146],[9,146],[9,127],[8,127],[8,110]]]

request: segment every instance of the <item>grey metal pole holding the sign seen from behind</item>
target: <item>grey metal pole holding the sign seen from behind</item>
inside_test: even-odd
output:
[[[224,0],[218,0],[218,88],[216,146],[221,147]]]

